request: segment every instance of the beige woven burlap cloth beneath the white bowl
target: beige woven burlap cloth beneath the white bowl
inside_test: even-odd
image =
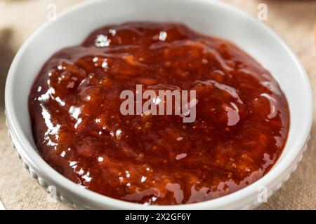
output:
[[[22,168],[16,157],[6,134],[4,83],[15,52],[27,36],[47,20],[48,4],[55,3],[60,13],[81,1],[83,0],[0,1],[0,200],[6,209],[68,209],[59,202],[49,200],[48,194]],[[225,1],[254,16],[258,13],[258,4],[265,3],[268,6],[266,23],[294,49],[308,72],[313,89],[316,89],[316,1]],[[289,181],[259,209],[316,209],[315,119],[303,161]]]

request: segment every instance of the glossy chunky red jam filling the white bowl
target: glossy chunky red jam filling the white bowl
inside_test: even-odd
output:
[[[194,123],[123,116],[122,90],[196,90]],[[289,108],[270,73],[235,45],[179,24],[127,23],[56,52],[29,95],[34,141],[60,174],[145,204],[228,195],[282,153]]]

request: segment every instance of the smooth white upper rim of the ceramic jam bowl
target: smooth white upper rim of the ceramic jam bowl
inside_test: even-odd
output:
[[[65,10],[65,12],[60,13],[58,15],[57,20],[60,20],[65,17],[65,15],[69,13],[74,13],[76,10],[84,8],[86,6],[92,5],[94,3],[98,3],[100,1],[113,1],[113,0],[91,0],[91,1],[84,1],[79,3],[72,8]],[[37,153],[36,148],[34,148],[29,141],[25,134],[23,134],[22,127],[18,123],[18,119],[15,116],[15,108],[13,107],[13,97],[11,92],[14,89],[13,86],[13,76],[15,76],[16,69],[19,66],[20,59],[23,57],[25,50],[27,47],[32,43],[34,38],[40,34],[45,29],[48,29],[51,25],[51,22],[46,22],[44,25],[41,25],[34,33],[27,38],[27,41],[23,43],[22,47],[18,50],[18,53],[15,55],[11,67],[8,71],[8,76],[6,80],[6,88],[5,88],[5,108],[6,108],[6,118],[8,121],[8,127],[11,130],[11,135],[17,144],[20,146],[19,150],[20,153],[23,155],[22,158],[29,162],[29,165],[32,165],[33,169],[35,168],[37,172],[39,172],[39,176],[44,176],[43,179],[48,179],[51,183],[57,188],[62,188],[64,192],[72,193],[74,196],[77,197],[79,204],[82,204],[82,200],[84,202],[91,202],[97,203],[99,207],[113,207],[115,209],[216,209],[216,208],[223,208],[233,202],[240,202],[245,197],[249,195],[258,194],[258,187],[260,186],[268,186],[272,182],[275,182],[274,185],[277,185],[280,180],[280,176],[286,173],[289,174],[289,168],[293,165],[293,162],[297,162],[297,157],[303,151],[303,146],[305,142],[308,140],[308,136],[310,133],[310,128],[312,126],[312,111],[313,111],[313,99],[312,99],[312,89],[310,87],[310,82],[308,79],[307,73],[303,69],[303,65],[299,61],[298,57],[295,55],[293,50],[289,48],[289,46],[282,41],[282,39],[275,34],[272,29],[270,29],[267,25],[263,22],[259,22],[256,18],[253,18],[248,13],[235,8],[235,6],[231,6],[228,3],[222,1],[209,1],[209,0],[173,0],[173,1],[190,1],[190,3],[204,3],[209,4],[209,6],[217,6],[220,8],[224,8],[225,10],[230,10],[233,13],[237,13],[239,16],[246,18],[247,20],[252,20],[252,22],[256,22],[256,25],[261,27],[265,32],[268,32],[275,40],[282,45],[284,50],[287,51],[287,54],[291,56],[293,62],[295,62],[296,67],[300,71],[300,76],[303,79],[303,85],[305,86],[305,95],[308,97],[307,104],[308,109],[305,110],[305,116],[302,116],[302,130],[299,132],[297,136],[297,141],[292,146],[291,153],[287,153],[284,155],[282,161],[277,164],[277,169],[271,169],[268,174],[265,174],[261,179],[258,181],[251,183],[251,185],[247,186],[246,188],[242,188],[241,190],[237,190],[235,193],[231,193],[229,195],[225,195],[223,197],[218,197],[213,200],[208,200],[205,202],[197,202],[194,204],[180,204],[180,205],[144,205],[144,204],[136,204],[134,202],[125,202],[123,200],[117,200],[112,197],[107,197],[105,195],[100,195],[99,193],[95,193],[91,190],[87,190],[78,186],[76,183],[68,180],[61,174],[55,171],[48,163],[44,161],[43,158]],[[291,127],[290,127],[291,128]],[[287,146],[285,146],[287,147]],[[259,203],[259,202],[258,202]]]

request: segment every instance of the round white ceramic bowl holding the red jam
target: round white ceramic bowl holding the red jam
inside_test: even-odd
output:
[[[27,97],[44,62],[69,45],[76,45],[98,27],[121,22],[183,22],[204,34],[226,38],[258,60],[279,82],[289,102],[291,123],[284,152],[262,179],[215,200],[176,206],[145,206],[93,193],[55,172],[37,153],[32,138]],[[55,186],[58,198],[77,209],[250,209],[258,206],[265,186],[268,196],[289,179],[301,160],[312,124],[312,91],[298,58],[256,18],[220,1],[105,0],[85,1],[39,28],[15,56],[6,81],[9,134],[29,173],[44,188]]]

